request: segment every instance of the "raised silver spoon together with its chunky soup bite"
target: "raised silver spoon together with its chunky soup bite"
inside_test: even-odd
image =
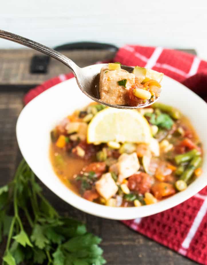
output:
[[[163,73],[118,62],[81,68],[64,54],[33,40],[4,30],[0,30],[0,38],[17,42],[60,61],[72,70],[80,90],[100,104],[122,109],[143,108],[160,97]]]

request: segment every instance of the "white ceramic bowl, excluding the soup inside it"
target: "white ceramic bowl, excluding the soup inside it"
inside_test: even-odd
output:
[[[195,93],[169,77],[162,81],[161,101],[178,108],[196,129],[204,151],[207,150],[207,104]],[[21,153],[33,172],[56,195],[72,206],[92,215],[126,220],[153,215],[187,200],[207,185],[207,159],[203,174],[188,188],[156,204],[141,207],[109,207],[89,202],[69,190],[54,173],[49,159],[50,130],[74,110],[91,100],[78,88],[74,78],[46,90],[21,111],[16,133]]]

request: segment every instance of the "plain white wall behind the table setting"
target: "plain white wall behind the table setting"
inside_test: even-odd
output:
[[[1,0],[0,28],[48,46],[99,41],[196,48],[207,59],[207,1]],[[22,46],[0,39],[0,48]]]

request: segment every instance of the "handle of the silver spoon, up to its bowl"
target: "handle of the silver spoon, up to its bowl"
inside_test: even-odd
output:
[[[6,40],[11,40],[13,42],[17,42],[19,44],[22,44],[24,46],[27,46],[29,48],[32,48],[32,49],[37,50],[39,52],[42,52],[44,54],[47,54],[47,55],[53,57],[54,59],[64,63],[64,65],[68,66],[73,71],[74,74],[77,71],[77,69],[79,68],[78,65],[76,65],[72,60],[70,60],[68,57],[66,57],[62,53],[57,52],[56,50],[53,50],[53,49],[51,49],[51,48],[49,48],[43,44],[40,44],[38,42],[35,42],[33,40],[29,40],[27,38],[24,38],[22,36],[19,36],[19,35],[13,34],[11,32],[4,31],[4,30],[0,30],[0,38],[6,39]]]

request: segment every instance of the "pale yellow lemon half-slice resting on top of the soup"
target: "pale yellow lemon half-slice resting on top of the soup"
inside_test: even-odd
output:
[[[149,123],[137,110],[105,108],[92,118],[87,130],[88,143],[149,144],[151,137]]]

